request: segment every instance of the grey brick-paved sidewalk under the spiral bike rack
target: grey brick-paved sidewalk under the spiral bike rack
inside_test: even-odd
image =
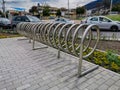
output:
[[[99,67],[77,78],[79,58],[61,52],[58,59],[51,47],[32,50],[23,38],[0,39],[0,90],[120,90],[120,74]],[[92,66],[83,60],[82,71]]]

